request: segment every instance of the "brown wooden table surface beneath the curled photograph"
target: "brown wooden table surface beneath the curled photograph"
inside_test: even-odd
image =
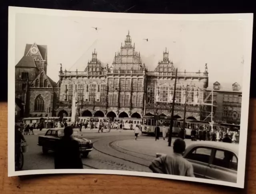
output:
[[[1,194],[231,194],[256,193],[256,99],[250,100],[246,183],[244,189],[204,184],[146,178],[136,176],[99,174],[61,174],[8,177],[7,176],[7,103],[0,103],[0,193]],[[243,129],[241,129],[243,130]],[[254,141],[252,141],[254,139]]]

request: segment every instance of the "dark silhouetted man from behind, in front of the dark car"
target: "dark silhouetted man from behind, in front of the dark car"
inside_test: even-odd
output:
[[[73,139],[72,134],[73,127],[65,127],[64,136],[56,144],[55,169],[83,169],[79,143]]]

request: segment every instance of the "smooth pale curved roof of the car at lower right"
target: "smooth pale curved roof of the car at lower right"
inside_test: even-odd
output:
[[[233,152],[238,156],[238,148],[239,148],[238,144],[225,143],[225,142],[221,142],[221,141],[196,141],[196,142],[188,145],[188,147],[186,147],[186,150],[191,150],[193,147],[197,147],[197,146],[223,149],[226,151]]]

